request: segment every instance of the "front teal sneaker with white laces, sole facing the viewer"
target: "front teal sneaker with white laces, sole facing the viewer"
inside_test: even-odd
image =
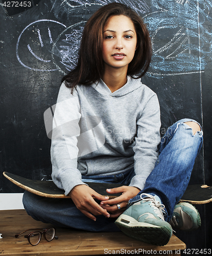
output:
[[[153,244],[166,245],[172,235],[171,225],[164,221],[158,196],[141,194],[141,201],[134,203],[115,221],[128,237]]]

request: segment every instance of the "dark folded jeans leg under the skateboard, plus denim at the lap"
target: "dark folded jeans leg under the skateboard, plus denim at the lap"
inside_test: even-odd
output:
[[[129,185],[134,175],[134,169],[132,168],[128,172],[124,174],[120,173],[118,175],[82,176],[82,181]],[[84,177],[86,177],[86,179]],[[33,219],[42,221],[44,223],[51,223],[55,226],[73,227],[94,232],[120,231],[120,229],[114,224],[115,219],[106,218],[101,215],[96,216],[97,220],[94,222],[82,214],[82,212],[76,208],[71,199],[44,198],[25,191],[23,196],[23,204],[28,215],[30,215]]]

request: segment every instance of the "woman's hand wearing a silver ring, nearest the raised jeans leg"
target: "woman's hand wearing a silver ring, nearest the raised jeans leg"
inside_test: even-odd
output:
[[[139,188],[130,186],[107,189],[107,193],[122,193],[122,195],[114,199],[102,201],[101,206],[111,213],[110,218],[118,218],[126,210],[129,199],[135,197],[140,191]],[[117,204],[120,205],[120,209],[118,209]]]

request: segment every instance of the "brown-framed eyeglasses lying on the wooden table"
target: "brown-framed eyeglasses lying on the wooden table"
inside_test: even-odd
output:
[[[24,236],[25,238],[28,239],[28,241],[31,245],[37,245],[41,241],[42,234],[44,234],[44,238],[48,242],[52,241],[54,238],[58,239],[58,237],[55,236],[55,228],[53,228],[53,227],[26,229],[25,231],[21,232],[20,234],[23,234],[24,232],[29,231],[29,230],[44,230],[43,232],[34,231],[34,232],[31,232],[31,233],[27,234],[26,236]],[[20,234],[16,234],[15,237],[17,238],[18,236],[20,236]]]

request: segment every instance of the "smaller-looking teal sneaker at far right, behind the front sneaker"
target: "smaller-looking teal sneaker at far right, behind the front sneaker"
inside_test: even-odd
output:
[[[201,226],[200,214],[192,204],[182,202],[175,206],[169,224],[174,229],[185,231],[196,230]]]

